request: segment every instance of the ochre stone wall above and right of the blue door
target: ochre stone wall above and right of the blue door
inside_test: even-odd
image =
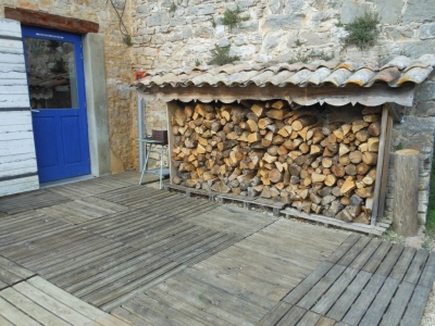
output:
[[[117,10],[122,10],[124,0],[114,0]],[[137,156],[134,139],[137,135],[135,93],[132,92],[132,48],[124,42],[120,33],[120,22],[112,5],[107,0],[2,0],[0,17],[4,17],[4,5],[40,10],[50,14],[96,22],[99,34],[104,36],[104,60],[108,93],[108,115],[112,173],[135,168]],[[126,12],[132,2],[126,1]],[[127,27],[130,27],[129,14],[124,14]]]

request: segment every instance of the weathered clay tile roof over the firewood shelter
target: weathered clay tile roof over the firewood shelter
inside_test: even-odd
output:
[[[257,86],[291,84],[306,87],[328,83],[337,87],[344,87],[348,84],[371,87],[375,83],[398,87],[407,82],[422,83],[431,74],[433,66],[435,66],[434,54],[424,54],[415,60],[397,55],[381,67],[378,61],[365,63],[313,61],[308,64],[301,62],[293,64],[243,62],[224,66],[186,66],[171,72],[165,70],[147,71],[146,77],[137,84],[146,88],[153,85],[159,87],[186,87],[189,85],[219,86],[221,84],[232,87],[245,87],[249,84]]]

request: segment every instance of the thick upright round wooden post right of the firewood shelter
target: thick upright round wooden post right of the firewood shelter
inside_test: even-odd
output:
[[[396,152],[393,228],[405,237],[417,235],[419,206],[419,151]]]

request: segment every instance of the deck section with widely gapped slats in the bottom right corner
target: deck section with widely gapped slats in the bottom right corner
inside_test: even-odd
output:
[[[426,250],[352,235],[259,325],[420,325],[434,268]]]

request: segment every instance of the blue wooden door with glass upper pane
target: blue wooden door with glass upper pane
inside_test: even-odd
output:
[[[39,181],[90,173],[82,37],[23,26]]]

